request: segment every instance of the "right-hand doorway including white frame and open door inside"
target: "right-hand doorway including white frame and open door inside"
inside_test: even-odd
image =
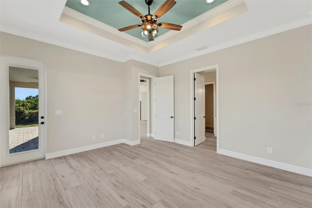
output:
[[[191,70],[191,92],[191,144],[218,151],[218,65]]]

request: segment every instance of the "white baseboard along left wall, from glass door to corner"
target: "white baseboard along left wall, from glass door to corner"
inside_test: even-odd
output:
[[[78,152],[84,152],[84,151],[88,151],[88,150],[92,150],[92,149],[101,148],[104,146],[117,145],[117,144],[121,144],[121,143],[125,143],[127,145],[134,146],[134,145],[140,144],[140,141],[139,140],[129,141],[126,139],[118,139],[118,140],[103,142],[103,143],[99,143],[99,144],[95,144],[95,145],[81,146],[81,147],[77,147],[77,148],[73,148],[73,149],[66,149],[66,150],[62,150],[62,151],[58,151],[58,152],[46,153],[45,159],[48,160],[48,159],[52,159],[52,158],[56,158],[56,157],[75,154]]]

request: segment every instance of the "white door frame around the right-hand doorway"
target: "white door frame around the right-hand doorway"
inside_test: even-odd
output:
[[[194,112],[194,73],[196,72],[201,72],[201,71],[209,71],[209,70],[215,70],[216,71],[216,152],[219,152],[219,65],[211,65],[211,66],[206,66],[203,68],[198,68],[198,69],[193,69],[190,71],[190,132],[191,132],[191,146],[195,146],[195,131],[194,131],[194,117],[195,117],[195,112]]]

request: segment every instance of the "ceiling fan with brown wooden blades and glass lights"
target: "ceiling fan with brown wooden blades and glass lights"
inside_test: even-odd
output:
[[[141,24],[135,24],[128,27],[118,29],[120,32],[135,29],[137,27],[141,27],[141,35],[144,38],[148,38],[148,41],[154,41],[154,38],[158,35],[158,26],[162,28],[166,28],[169,30],[177,30],[180,31],[182,26],[173,24],[173,23],[166,23],[161,22],[158,23],[157,20],[161,16],[163,16],[166,12],[168,12],[175,4],[175,0],[166,0],[155,12],[154,15],[150,14],[150,5],[152,5],[153,0],[145,0],[145,3],[148,5],[148,14],[143,16],[137,9],[131,6],[126,1],[122,0],[119,2],[121,6],[126,8],[132,14],[136,15],[138,18],[142,20]]]

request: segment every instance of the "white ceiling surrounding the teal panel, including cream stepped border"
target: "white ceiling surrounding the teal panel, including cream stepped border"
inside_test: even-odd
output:
[[[312,23],[311,0],[228,0],[184,23],[180,32],[144,42],[65,4],[0,0],[0,31],[118,62],[164,66]]]

